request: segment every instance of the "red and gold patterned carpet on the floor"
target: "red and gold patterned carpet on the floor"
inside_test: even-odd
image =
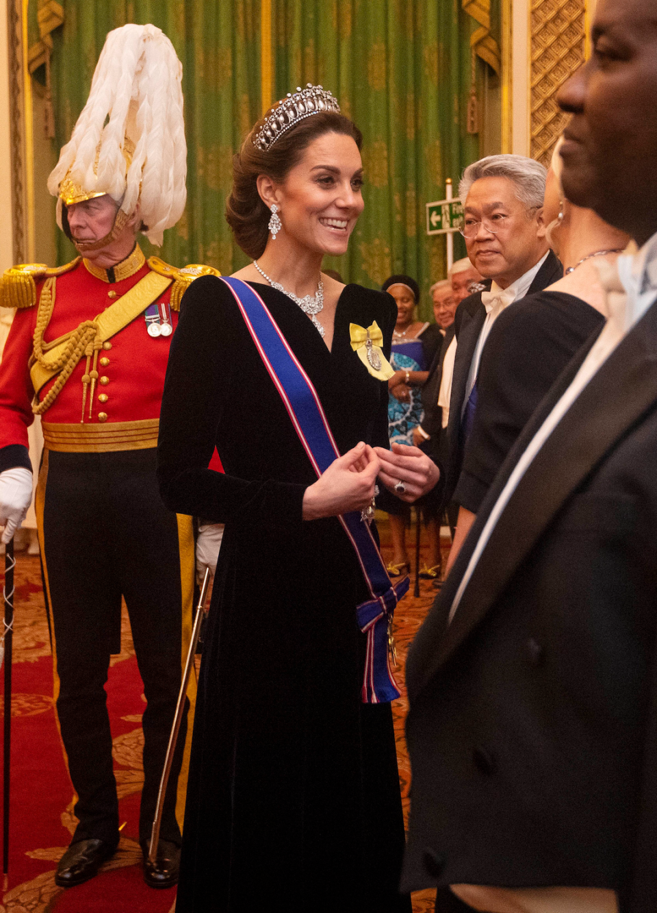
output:
[[[383,526],[384,557],[388,551],[386,532]],[[422,581],[420,597],[407,596],[397,610],[395,633],[401,682],[406,650],[434,594],[431,584]],[[120,821],[125,822],[120,849],[98,877],[65,891],[55,885],[54,873],[75,829],[73,791],[53,707],[52,660],[39,561],[25,553],[16,556],[15,612],[9,878],[0,913],[170,913],[175,890],[152,890],[141,879],[138,819],[143,779],[143,698],[127,615],[123,620],[122,651],[120,656],[112,657],[107,687]],[[393,708],[405,813],[411,779],[403,739],[407,706],[404,692]],[[432,891],[415,894],[413,913],[433,910],[433,895]]]

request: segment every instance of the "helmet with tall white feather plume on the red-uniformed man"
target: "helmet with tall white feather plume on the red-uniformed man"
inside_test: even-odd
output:
[[[162,29],[130,24],[110,32],[87,104],[48,178],[60,228],[62,203],[110,194],[125,216],[139,202],[143,233],[162,244],[187,199],[182,79]]]

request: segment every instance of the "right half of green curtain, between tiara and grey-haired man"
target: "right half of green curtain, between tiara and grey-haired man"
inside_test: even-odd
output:
[[[367,286],[391,273],[417,278],[429,317],[426,290],[445,275],[445,242],[426,235],[424,204],[443,199],[445,178],[456,184],[478,156],[465,130],[471,26],[461,0],[273,6],[276,95],[319,82],[363,132],[365,211],[349,253],[330,265]]]

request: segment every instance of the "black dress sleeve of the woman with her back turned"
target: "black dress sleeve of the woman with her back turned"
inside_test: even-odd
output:
[[[477,374],[474,423],[454,491],[458,504],[478,511],[530,415],[600,320],[585,302],[546,293],[495,320]]]

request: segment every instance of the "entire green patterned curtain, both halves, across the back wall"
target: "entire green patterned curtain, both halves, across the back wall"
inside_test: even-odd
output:
[[[36,5],[37,0],[30,0]],[[231,156],[261,114],[259,0],[64,0],[53,32],[57,148],[68,141],[106,33],[151,22],[183,61],[188,204],[160,251],[177,265],[245,263],[224,221]],[[274,88],[331,89],[364,134],[366,207],[349,253],[328,265],[370,287],[392,272],[426,290],[443,278],[444,238],[427,237],[424,204],[442,199],[478,156],[465,129],[473,20],[462,0],[272,0]],[[456,237],[455,256],[461,256]],[[144,249],[150,252],[148,243]],[[59,233],[60,261],[74,251]]]

